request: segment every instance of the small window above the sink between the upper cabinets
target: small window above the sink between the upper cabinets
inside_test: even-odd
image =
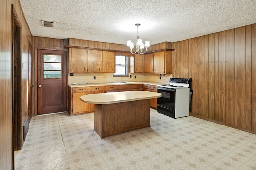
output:
[[[116,72],[114,76],[128,76],[128,57],[116,55]]]

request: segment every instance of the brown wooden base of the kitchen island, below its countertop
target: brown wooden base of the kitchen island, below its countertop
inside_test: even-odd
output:
[[[150,99],[94,106],[94,131],[100,138],[144,127],[150,127]]]

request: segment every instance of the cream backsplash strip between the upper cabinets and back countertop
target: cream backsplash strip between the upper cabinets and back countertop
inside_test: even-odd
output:
[[[95,76],[95,80],[94,80]],[[131,78],[130,78],[131,76]],[[135,78],[136,76],[136,78]],[[168,83],[172,74],[166,74],[161,76],[160,74],[143,74],[134,73],[126,77],[114,77],[112,73],[98,73],[98,74],[79,74],[74,73],[74,76],[68,76],[68,84],[72,83],[110,83],[110,82],[120,82],[122,79],[126,82],[163,82]]]

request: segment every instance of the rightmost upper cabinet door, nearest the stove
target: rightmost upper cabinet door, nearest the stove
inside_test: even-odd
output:
[[[165,57],[164,51],[154,53],[154,73],[165,73]]]

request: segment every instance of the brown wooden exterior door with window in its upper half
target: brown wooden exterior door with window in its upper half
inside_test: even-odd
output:
[[[38,50],[37,113],[66,111],[66,51]]]

